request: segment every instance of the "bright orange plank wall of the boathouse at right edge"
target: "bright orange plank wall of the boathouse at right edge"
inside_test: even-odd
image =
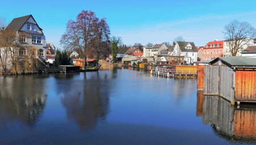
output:
[[[236,71],[236,101],[256,101],[256,71]]]

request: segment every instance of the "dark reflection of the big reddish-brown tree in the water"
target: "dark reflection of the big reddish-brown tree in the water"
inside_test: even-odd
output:
[[[82,130],[93,130],[108,115],[111,84],[106,73],[81,74],[84,80],[66,82],[58,91],[64,93],[61,102],[69,121],[76,122]]]

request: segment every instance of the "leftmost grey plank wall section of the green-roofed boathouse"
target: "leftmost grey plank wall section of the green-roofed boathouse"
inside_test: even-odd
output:
[[[204,67],[204,94],[219,95],[218,91],[219,66],[207,65]]]

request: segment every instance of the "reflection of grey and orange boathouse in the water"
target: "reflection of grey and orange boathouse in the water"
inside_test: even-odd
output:
[[[197,114],[203,108],[203,123],[233,143],[256,143],[256,107],[244,105],[239,109],[230,102],[214,96],[197,94]],[[203,105],[203,106],[202,106]]]

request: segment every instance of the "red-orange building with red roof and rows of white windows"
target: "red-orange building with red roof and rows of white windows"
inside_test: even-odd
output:
[[[203,60],[213,60],[223,56],[224,41],[214,40],[208,42],[204,47]]]

